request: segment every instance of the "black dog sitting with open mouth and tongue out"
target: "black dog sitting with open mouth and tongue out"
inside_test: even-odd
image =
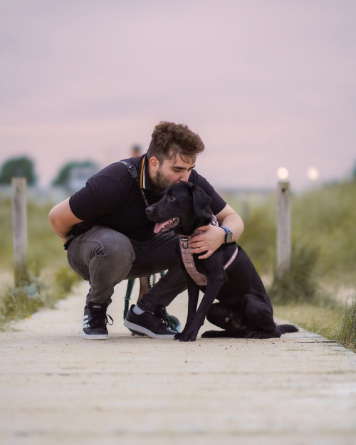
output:
[[[177,234],[191,236],[197,227],[211,223],[211,199],[194,184],[184,182],[168,187],[162,199],[147,207],[147,216],[155,221],[155,232],[174,230]],[[180,243],[178,249],[182,259]],[[187,238],[185,238],[187,240]],[[186,247],[184,247],[186,248]],[[293,325],[277,326],[273,308],[261,278],[246,252],[237,246],[238,253],[231,265],[224,265],[236,251],[236,244],[222,244],[209,258],[199,260],[193,254],[198,273],[207,277],[206,286],[199,286],[187,273],[188,317],[182,333],[174,340],[194,341],[205,317],[223,331],[207,331],[202,337],[272,338],[298,331]],[[177,252],[178,253],[178,252]],[[202,253],[199,253],[202,255]],[[182,261],[182,267],[184,263]],[[186,270],[187,271],[187,270]],[[199,289],[204,298],[197,310]],[[214,300],[219,303],[214,303]]]

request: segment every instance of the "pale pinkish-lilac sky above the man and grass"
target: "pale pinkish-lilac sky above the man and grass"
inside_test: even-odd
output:
[[[218,189],[347,179],[356,1],[0,0],[0,164],[30,157],[46,186],[147,150],[161,120],[200,135]]]

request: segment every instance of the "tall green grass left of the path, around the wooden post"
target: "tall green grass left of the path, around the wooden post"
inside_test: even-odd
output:
[[[13,271],[12,204],[11,199],[0,201],[0,270]],[[27,317],[41,307],[53,307],[59,298],[70,291],[80,277],[70,269],[58,238],[48,224],[52,204],[27,204],[28,221],[28,271],[30,280],[23,286],[4,286],[0,281],[0,329],[9,323]],[[6,275],[8,276],[9,273]]]

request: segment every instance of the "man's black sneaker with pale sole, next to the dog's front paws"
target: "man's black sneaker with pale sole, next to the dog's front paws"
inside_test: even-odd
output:
[[[136,330],[139,333],[149,335],[152,338],[174,338],[177,331],[169,329],[164,323],[164,316],[161,310],[156,313],[144,312],[141,315],[134,313],[132,308],[127,312],[124,326],[126,328]]]

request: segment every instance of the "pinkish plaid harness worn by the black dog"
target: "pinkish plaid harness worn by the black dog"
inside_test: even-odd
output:
[[[219,222],[216,219],[216,216],[213,215],[213,217],[210,221],[210,224],[213,226],[219,227]],[[204,273],[200,273],[197,271],[197,268],[195,267],[194,259],[193,259],[194,252],[193,252],[192,248],[189,246],[190,239],[193,238],[193,236],[197,236],[197,235],[201,235],[201,234],[205,234],[205,231],[204,230],[196,230],[196,231],[194,231],[194,234],[192,234],[190,236],[181,235],[179,245],[180,245],[180,251],[182,253],[184,267],[187,269],[187,272],[193,278],[193,280],[197,283],[198,286],[206,286],[206,284],[208,283],[208,277],[206,275],[204,275]],[[234,261],[238,250],[239,250],[239,248],[236,246],[236,249],[235,249],[234,253],[232,254],[231,258],[225,264],[224,270],[227,269],[230,266],[230,264]]]

